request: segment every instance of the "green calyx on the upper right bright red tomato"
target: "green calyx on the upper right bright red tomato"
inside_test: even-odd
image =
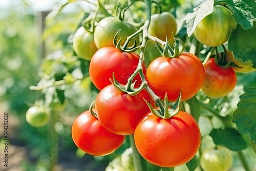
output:
[[[178,57],[184,50],[185,44],[184,42],[179,39],[174,33],[174,39],[175,42],[172,46],[169,46],[169,42],[167,41],[167,37],[164,43],[164,48],[162,48],[158,42],[156,41],[157,47],[159,51],[163,54],[164,57],[166,58],[175,58]]]

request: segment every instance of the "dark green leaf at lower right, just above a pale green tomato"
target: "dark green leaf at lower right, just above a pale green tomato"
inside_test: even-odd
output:
[[[209,134],[216,145],[223,145],[232,151],[246,148],[246,142],[236,129],[213,129]]]

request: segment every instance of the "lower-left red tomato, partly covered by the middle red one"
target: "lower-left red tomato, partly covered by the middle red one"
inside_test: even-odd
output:
[[[111,154],[124,141],[124,136],[116,135],[106,130],[89,110],[81,113],[75,119],[71,135],[78,148],[93,156]]]

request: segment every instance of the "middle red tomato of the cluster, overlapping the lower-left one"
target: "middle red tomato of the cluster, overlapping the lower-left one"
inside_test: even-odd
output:
[[[134,134],[139,120],[150,109],[145,100],[150,96],[144,90],[135,96],[118,91],[112,84],[100,91],[95,108],[100,123],[109,131],[119,135]]]

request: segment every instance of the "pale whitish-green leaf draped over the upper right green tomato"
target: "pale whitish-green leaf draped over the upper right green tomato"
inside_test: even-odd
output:
[[[186,21],[188,37],[193,34],[201,20],[214,11],[214,0],[206,0],[198,7],[194,8],[193,11],[193,13],[187,13],[182,19],[183,21]]]

